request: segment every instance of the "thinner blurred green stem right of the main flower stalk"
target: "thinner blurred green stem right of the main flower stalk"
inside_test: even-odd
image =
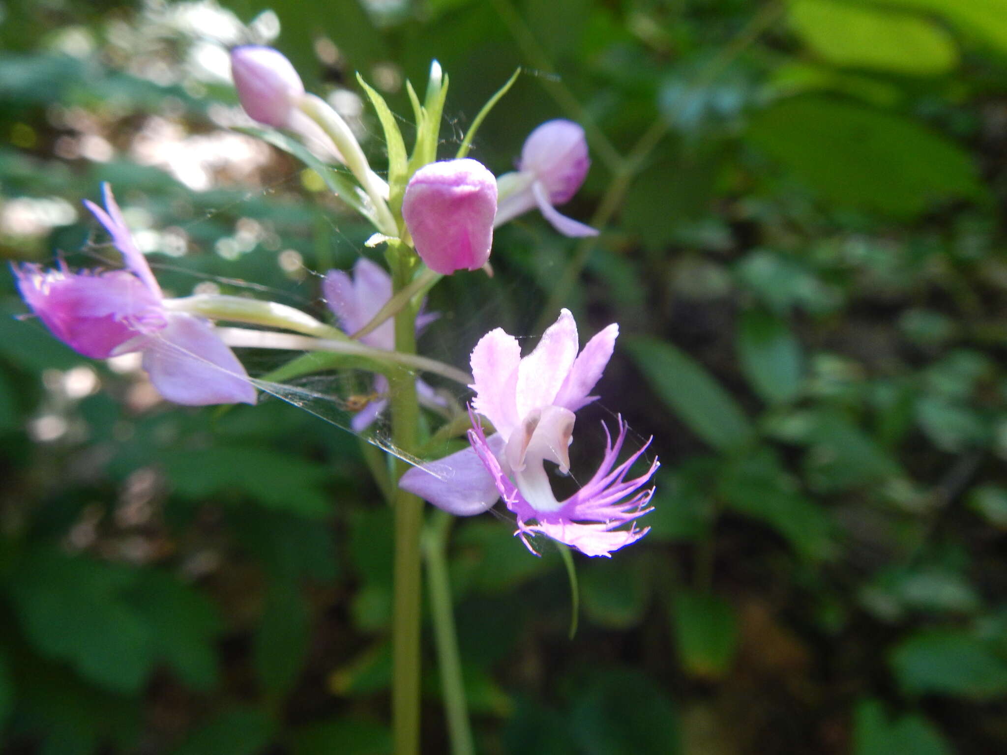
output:
[[[423,554],[427,563],[427,589],[430,591],[430,613],[437,642],[437,665],[440,669],[441,695],[447,717],[452,755],[474,755],[472,731],[468,725],[468,705],[461,675],[458,637],[454,630],[451,583],[447,571],[447,542],[454,516],[437,509],[423,537]]]

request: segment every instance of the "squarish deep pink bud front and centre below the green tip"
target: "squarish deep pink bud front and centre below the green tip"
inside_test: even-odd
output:
[[[413,175],[402,216],[420,259],[435,273],[478,270],[489,259],[496,179],[479,162],[443,160]]]

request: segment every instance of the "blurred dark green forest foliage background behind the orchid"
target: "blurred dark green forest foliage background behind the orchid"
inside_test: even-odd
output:
[[[321,316],[315,273],[370,235],[228,128],[223,50],[277,17],[350,110],[359,70],[408,114],[403,78],[439,58],[441,156],[518,65],[472,156],[499,173],[543,120],[589,127],[565,211],[600,241],[500,230],[495,279],[442,284],[422,346],[464,364],[492,327],[541,333],[551,295],[582,337],[618,321],[578,445],[606,410],[653,433],[657,510],[578,560],[573,640],[555,553],[457,522],[480,752],[1007,749],[1005,0],[0,7],[0,252],[114,260],[80,204],[109,180],[179,295],[255,284]],[[167,406],[3,289],[4,752],[389,752],[390,516],[357,440],[275,400]]]

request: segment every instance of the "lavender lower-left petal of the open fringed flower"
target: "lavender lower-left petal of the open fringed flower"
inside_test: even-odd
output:
[[[499,434],[486,443],[493,453],[503,447]],[[471,447],[413,467],[402,475],[399,487],[457,516],[482,513],[499,498],[496,483]]]

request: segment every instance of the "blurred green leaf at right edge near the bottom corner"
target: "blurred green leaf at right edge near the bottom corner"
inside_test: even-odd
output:
[[[957,695],[990,700],[1007,694],[1007,660],[989,643],[956,629],[926,629],[891,654],[902,689],[915,695]]]

